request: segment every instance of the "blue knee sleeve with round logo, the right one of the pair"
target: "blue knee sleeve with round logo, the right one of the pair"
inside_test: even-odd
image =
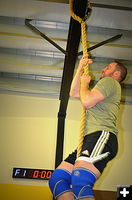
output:
[[[96,179],[96,175],[88,169],[76,168],[73,170],[71,182],[75,198],[94,198],[92,187]]]

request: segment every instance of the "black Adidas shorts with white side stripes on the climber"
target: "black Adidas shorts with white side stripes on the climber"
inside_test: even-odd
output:
[[[80,156],[95,159],[93,164],[102,173],[107,163],[116,156],[117,152],[117,136],[109,131],[97,131],[84,137]],[[76,155],[77,150],[69,154],[64,161],[74,165]]]

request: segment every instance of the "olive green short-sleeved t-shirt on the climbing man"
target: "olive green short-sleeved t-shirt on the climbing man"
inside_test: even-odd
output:
[[[110,131],[117,134],[116,120],[121,100],[121,86],[112,77],[105,77],[95,85],[105,99],[86,110],[85,134],[95,131]]]

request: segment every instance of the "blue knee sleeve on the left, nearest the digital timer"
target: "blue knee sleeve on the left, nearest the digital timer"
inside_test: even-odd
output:
[[[56,169],[50,180],[49,187],[53,196],[57,198],[61,194],[71,191],[71,174],[64,169]]]

